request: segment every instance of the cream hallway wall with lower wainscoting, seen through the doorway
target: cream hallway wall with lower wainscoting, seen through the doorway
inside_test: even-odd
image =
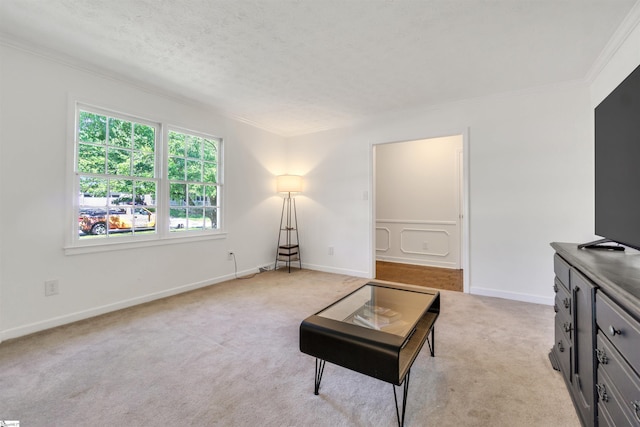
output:
[[[454,135],[374,147],[377,260],[461,268],[462,142]]]

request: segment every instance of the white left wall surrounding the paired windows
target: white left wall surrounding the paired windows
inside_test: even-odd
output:
[[[202,106],[0,46],[0,341],[233,277],[273,262],[283,138]],[[219,240],[65,255],[69,96],[224,138]],[[57,279],[60,294],[44,296]]]

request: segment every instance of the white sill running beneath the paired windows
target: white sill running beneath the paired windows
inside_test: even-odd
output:
[[[69,245],[65,246],[65,255],[82,255],[98,252],[121,251],[126,249],[146,248],[151,246],[177,245],[183,243],[200,242],[204,240],[220,240],[226,239],[227,233],[216,232],[185,236],[167,236],[162,238],[144,239],[144,240],[128,240],[115,242],[100,242],[98,244]]]

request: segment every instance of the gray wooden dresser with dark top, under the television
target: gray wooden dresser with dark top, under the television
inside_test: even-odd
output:
[[[640,252],[555,249],[555,342],[585,426],[640,426]]]

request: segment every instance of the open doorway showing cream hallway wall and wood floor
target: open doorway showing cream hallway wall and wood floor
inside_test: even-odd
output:
[[[374,144],[374,277],[468,292],[467,133]]]

